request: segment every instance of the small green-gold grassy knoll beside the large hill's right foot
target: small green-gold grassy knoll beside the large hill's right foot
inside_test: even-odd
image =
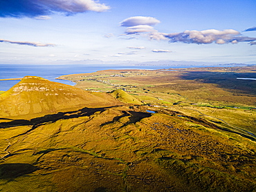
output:
[[[121,90],[121,89],[113,90],[111,92],[111,95],[116,99],[118,99],[120,102],[124,102],[128,104],[143,104],[138,99],[136,99],[132,95],[129,95],[128,93],[126,93],[124,90]]]

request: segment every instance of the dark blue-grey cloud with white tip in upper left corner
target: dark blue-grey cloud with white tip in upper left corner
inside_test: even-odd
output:
[[[0,1],[0,17],[32,17],[49,19],[48,15],[61,12],[75,15],[79,12],[104,12],[109,6],[93,0],[8,0]]]

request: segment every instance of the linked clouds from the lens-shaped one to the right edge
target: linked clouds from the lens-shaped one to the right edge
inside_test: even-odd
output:
[[[149,39],[168,40],[170,43],[181,42],[184,44],[238,44],[239,42],[249,42],[255,45],[255,37],[245,37],[240,32],[233,29],[226,30],[185,30],[184,32],[165,33],[159,32],[153,26],[160,21],[154,17],[129,17],[120,22],[120,26],[127,27],[126,35],[147,35]],[[245,31],[256,30],[248,28]]]

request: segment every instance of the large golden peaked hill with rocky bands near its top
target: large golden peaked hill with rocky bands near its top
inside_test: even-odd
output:
[[[0,95],[0,117],[68,111],[82,107],[113,106],[118,101],[104,93],[92,94],[80,88],[41,77],[26,76]]]

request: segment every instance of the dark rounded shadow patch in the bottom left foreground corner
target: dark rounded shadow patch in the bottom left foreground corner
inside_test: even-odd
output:
[[[21,175],[33,173],[37,169],[32,164],[0,164],[0,180],[13,180]]]

